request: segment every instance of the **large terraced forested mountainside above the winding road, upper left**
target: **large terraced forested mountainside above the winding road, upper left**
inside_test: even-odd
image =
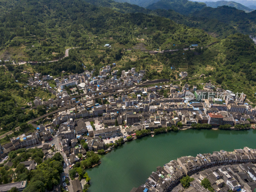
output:
[[[146,33],[148,41],[156,48],[169,38],[181,43],[179,35],[175,37],[174,34],[179,34],[183,28],[186,27],[169,19],[142,13],[122,14],[84,0],[20,0],[18,6],[0,18],[0,47],[27,44],[31,48],[34,45],[34,50],[26,48],[31,60],[43,60],[46,56],[50,60],[52,52],[59,53],[55,55],[57,58],[63,55],[65,46],[86,46],[89,34],[127,38],[132,42],[138,35]],[[122,33],[129,34],[129,38]],[[188,30],[187,33],[198,43],[206,43],[202,31],[190,33]],[[189,38],[182,41],[184,44],[195,43]]]

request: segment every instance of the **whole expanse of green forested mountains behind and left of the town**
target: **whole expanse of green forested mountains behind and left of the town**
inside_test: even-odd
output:
[[[49,61],[62,57],[67,48],[80,48],[70,50],[69,57],[57,62],[38,62],[27,68],[6,64],[0,68],[3,132],[40,115],[39,110],[24,113],[20,109],[35,96],[42,95],[40,98],[45,100],[53,96],[27,88],[29,75],[22,74],[23,70],[59,76],[62,71],[67,75],[81,73],[86,66],[89,71],[95,68],[93,76],[97,76],[100,68],[116,63],[118,70],[146,69],[147,79],[175,79],[178,70],[188,70],[191,77],[204,73],[209,76],[206,80],[232,91],[246,84],[246,94],[256,92],[253,77],[256,51],[247,36],[256,35],[256,11],[245,13],[228,6],[203,5],[200,11],[182,15],[174,10],[149,10],[111,0],[19,0],[16,3],[12,7],[7,2],[5,6],[10,9],[0,16],[1,60]],[[195,9],[186,7],[190,2],[185,0],[175,3],[180,4],[176,8],[185,8],[187,13]],[[111,48],[104,47],[105,44],[111,44]],[[199,48],[155,55],[145,52],[188,48],[191,44],[199,44]]]

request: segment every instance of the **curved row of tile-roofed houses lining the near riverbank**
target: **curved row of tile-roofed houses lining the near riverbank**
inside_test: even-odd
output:
[[[169,163],[165,163],[163,167],[156,167],[157,170],[152,172],[149,176],[150,181],[147,180],[146,183],[142,184],[139,188],[132,188],[131,192],[142,192],[144,189],[147,189],[147,191],[161,189],[162,192],[168,192],[176,187],[180,180],[186,175],[198,174],[198,172],[204,169],[215,166],[255,163],[256,156],[254,156],[254,154],[256,154],[255,149],[244,147],[243,149],[234,149],[234,151],[231,152],[220,150],[212,154],[199,153],[195,157],[178,157],[177,160],[171,160]],[[228,177],[228,179],[230,178]],[[154,185],[152,185],[152,183],[154,183]]]

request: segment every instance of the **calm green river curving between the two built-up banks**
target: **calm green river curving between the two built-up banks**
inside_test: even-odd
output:
[[[212,151],[256,148],[256,130],[183,130],[142,137],[101,156],[101,164],[88,169],[90,192],[130,192],[144,184],[157,166],[181,156]]]

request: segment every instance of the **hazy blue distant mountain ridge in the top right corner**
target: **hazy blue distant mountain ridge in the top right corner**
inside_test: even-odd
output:
[[[236,9],[242,10],[244,12],[251,12],[254,10],[240,3],[236,3],[234,1],[216,1],[216,2],[204,2],[204,3],[207,5],[207,7],[212,7],[212,8],[217,8],[223,5],[227,5],[229,7],[235,7]]]

